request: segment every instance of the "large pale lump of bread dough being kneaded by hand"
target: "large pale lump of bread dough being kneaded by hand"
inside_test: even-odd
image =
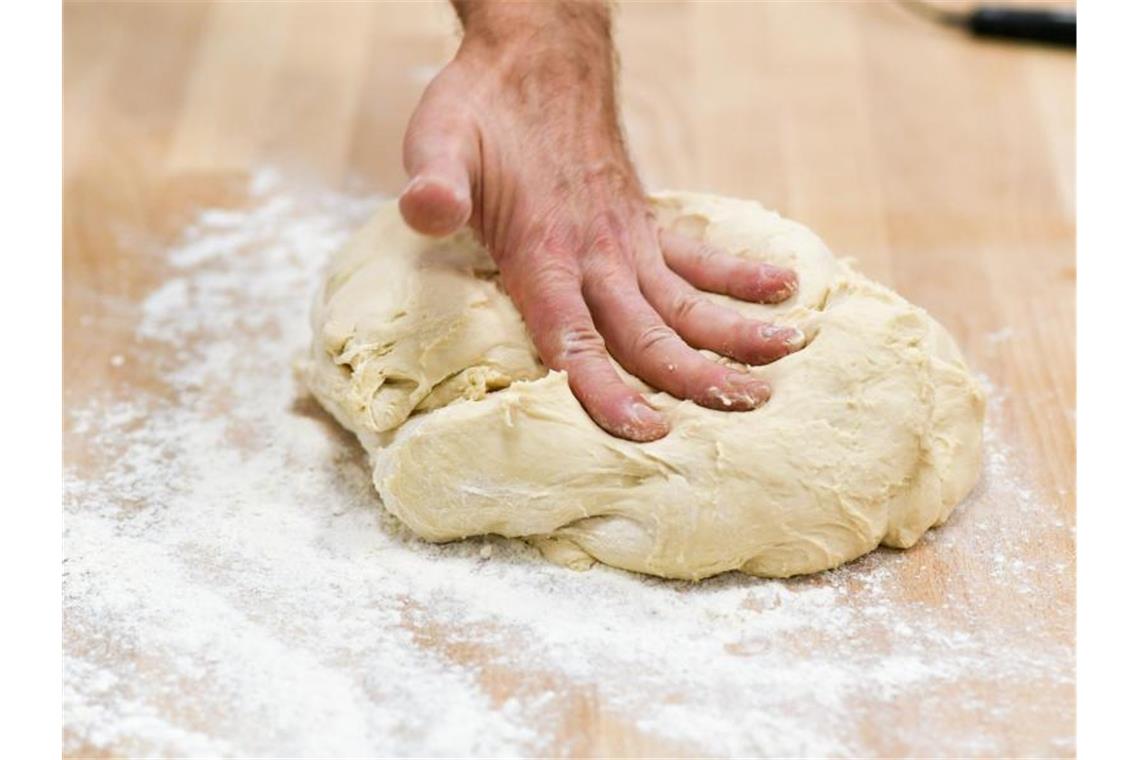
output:
[[[608,435],[540,363],[471,234],[422,237],[391,203],[332,261],[302,362],[384,506],[429,541],[523,537],[571,566],[686,579],[811,573],[945,521],[977,480],[984,409],[945,329],[756,203],[653,206],[662,227],[799,273],[781,304],[709,296],[808,336],[750,369],[771,400],[716,411],[622,373],[671,431]]]

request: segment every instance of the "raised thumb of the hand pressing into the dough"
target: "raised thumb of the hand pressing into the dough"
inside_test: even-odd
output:
[[[475,169],[474,129],[447,89],[429,87],[404,136],[404,167],[410,179],[400,213],[424,235],[455,232],[471,218]]]

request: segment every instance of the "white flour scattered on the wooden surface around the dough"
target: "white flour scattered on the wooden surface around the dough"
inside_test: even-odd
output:
[[[983,484],[909,553],[689,585],[426,545],[290,369],[375,204],[259,172],[111,358],[153,382],[70,410],[68,753],[992,754],[1026,717],[1072,752],[1072,562],[1025,559],[1072,529],[993,433],[997,389]]]

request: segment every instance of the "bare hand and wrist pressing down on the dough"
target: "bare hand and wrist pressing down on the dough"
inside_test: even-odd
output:
[[[764,403],[766,383],[695,349],[757,365],[801,348],[804,335],[744,319],[700,291],[771,303],[795,292],[796,275],[658,230],[621,140],[606,8],[455,5],[463,44],[405,136],[408,224],[427,235],[471,224],[543,361],[567,371],[613,435],[651,441],[668,426],[610,353],[705,407]]]

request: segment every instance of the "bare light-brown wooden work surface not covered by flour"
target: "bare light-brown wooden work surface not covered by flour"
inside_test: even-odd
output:
[[[988,378],[1003,404],[994,434],[1064,524],[1020,559],[1067,563],[1032,606],[1070,646],[1074,54],[975,42],[890,2],[650,2],[617,18],[624,117],[646,185],[757,198],[806,223],[927,308]],[[124,239],[173,239],[264,165],[397,194],[405,123],[456,42],[443,3],[67,3],[67,408],[112,382],[152,382],[109,361],[132,330],[112,312],[162,278]],[[65,433],[66,464],[82,472],[95,444]],[[938,577],[923,582],[937,589],[966,564],[929,565]],[[1025,600],[1001,587],[983,597],[993,615]],[[993,753],[1072,752],[1058,743],[1073,732],[1072,683],[1047,692],[1012,692],[1025,709],[1013,705]],[[952,696],[939,708],[956,709]],[[597,714],[573,706],[585,738],[569,752],[678,751],[632,729],[616,738],[621,725]],[[869,742],[914,750],[889,732]]]

